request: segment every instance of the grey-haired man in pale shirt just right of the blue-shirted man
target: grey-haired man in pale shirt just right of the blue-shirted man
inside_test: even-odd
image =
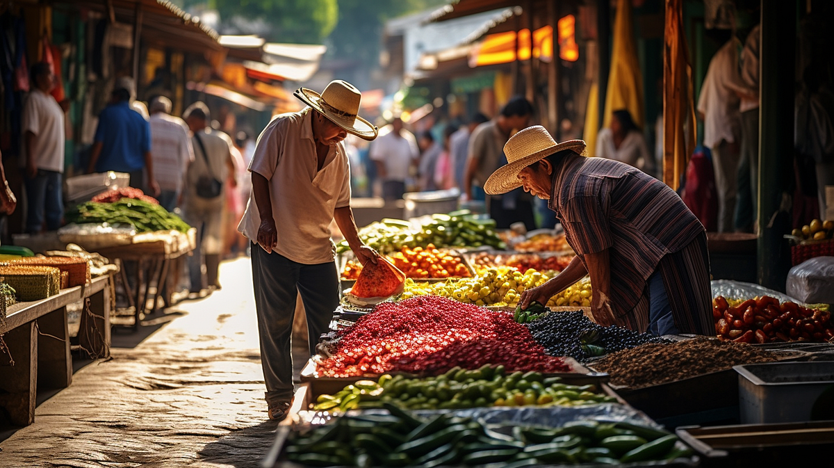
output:
[[[188,126],[171,113],[171,100],[164,96],[151,99],[151,158],[159,184],[159,204],[173,211],[182,198],[183,180],[188,164],[194,160]]]

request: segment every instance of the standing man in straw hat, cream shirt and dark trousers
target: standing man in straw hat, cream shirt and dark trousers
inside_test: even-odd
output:
[[[249,171],[252,194],[238,227],[252,243],[261,363],[269,419],[283,420],[293,397],[290,352],[295,300],[304,301],[310,353],[339,305],[339,275],[329,225],[335,219],[362,264],[379,256],[364,245],[350,209],[350,170],[342,140],[373,140],[357,115],[361,94],[336,80],[324,93],[300,88],[309,107],[274,118],[260,134]]]

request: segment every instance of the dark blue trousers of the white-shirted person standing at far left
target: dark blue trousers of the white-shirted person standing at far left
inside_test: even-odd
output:
[[[63,174],[56,171],[38,169],[34,179],[24,177],[26,184],[26,232],[38,234],[43,229],[46,219],[47,230],[54,231],[61,227],[63,219],[63,199],[61,179]]]

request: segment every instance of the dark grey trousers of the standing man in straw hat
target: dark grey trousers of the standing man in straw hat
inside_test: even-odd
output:
[[[293,398],[293,335],[295,302],[301,293],[307,315],[310,355],[319,336],[327,333],[339,306],[339,276],[335,262],[299,264],[283,255],[268,254],[252,245],[252,283],[258,313],[261,366],[269,405]]]

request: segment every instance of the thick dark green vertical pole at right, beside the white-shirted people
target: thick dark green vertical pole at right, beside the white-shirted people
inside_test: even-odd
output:
[[[793,153],[796,1],[761,2],[759,107],[759,283],[785,290],[786,244],[781,224],[771,224],[785,189]]]

